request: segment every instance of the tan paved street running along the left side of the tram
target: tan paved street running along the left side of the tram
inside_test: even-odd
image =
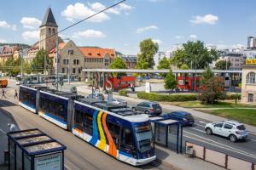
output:
[[[2,99],[0,101],[0,128],[1,132],[6,133],[8,131],[7,123],[12,120],[18,124],[20,129],[28,128],[39,128],[44,133],[49,134],[53,138],[60,141],[62,144],[67,146],[65,151],[65,167],[68,170],[112,170],[112,169],[127,169],[127,170],[139,170],[139,169],[148,169],[148,170],[161,170],[161,169],[171,169],[166,167],[156,161],[152,163],[141,166],[141,167],[132,167],[128,164],[125,164],[121,161],[114,159],[111,156],[108,156],[106,153],[103,153],[101,150],[96,149],[90,144],[85,143],[83,140],[75,137],[73,133],[63,130],[61,127],[57,127],[51,122],[44,120],[38,115],[32,114],[32,112],[27,111],[26,109],[21,108],[17,104],[17,99],[13,99],[13,94],[15,88],[17,88],[14,82],[9,83],[7,88],[7,97],[8,99]],[[12,88],[15,87],[15,88]],[[15,104],[15,105],[14,105]],[[0,133],[1,133],[0,132]],[[5,136],[5,135],[4,135]],[[1,137],[6,142],[6,137]],[[1,143],[2,144],[2,143]],[[7,144],[5,143],[4,145]],[[3,152],[3,148],[0,147]],[[1,162],[0,162],[1,163]]]

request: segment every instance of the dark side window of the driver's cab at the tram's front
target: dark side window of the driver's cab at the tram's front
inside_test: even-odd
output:
[[[129,128],[124,128],[122,130],[120,150],[123,150],[132,155],[136,153],[135,147],[133,145],[132,133]]]

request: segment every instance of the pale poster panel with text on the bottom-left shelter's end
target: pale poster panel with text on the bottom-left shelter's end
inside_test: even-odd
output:
[[[35,158],[35,170],[61,170],[62,155],[61,153]]]

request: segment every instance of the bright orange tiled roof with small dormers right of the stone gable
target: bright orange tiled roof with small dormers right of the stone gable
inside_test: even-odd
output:
[[[84,54],[86,58],[104,58],[106,54],[109,54],[110,58],[115,57],[114,49],[111,48],[86,48],[81,47],[79,50]]]

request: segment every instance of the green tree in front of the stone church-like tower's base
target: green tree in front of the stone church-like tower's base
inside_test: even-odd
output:
[[[33,72],[42,72],[44,73],[44,57],[46,58],[46,69],[50,69],[52,65],[52,60],[49,59],[49,55],[47,51],[44,49],[40,49],[36,55],[36,57],[32,60],[32,71]]]

